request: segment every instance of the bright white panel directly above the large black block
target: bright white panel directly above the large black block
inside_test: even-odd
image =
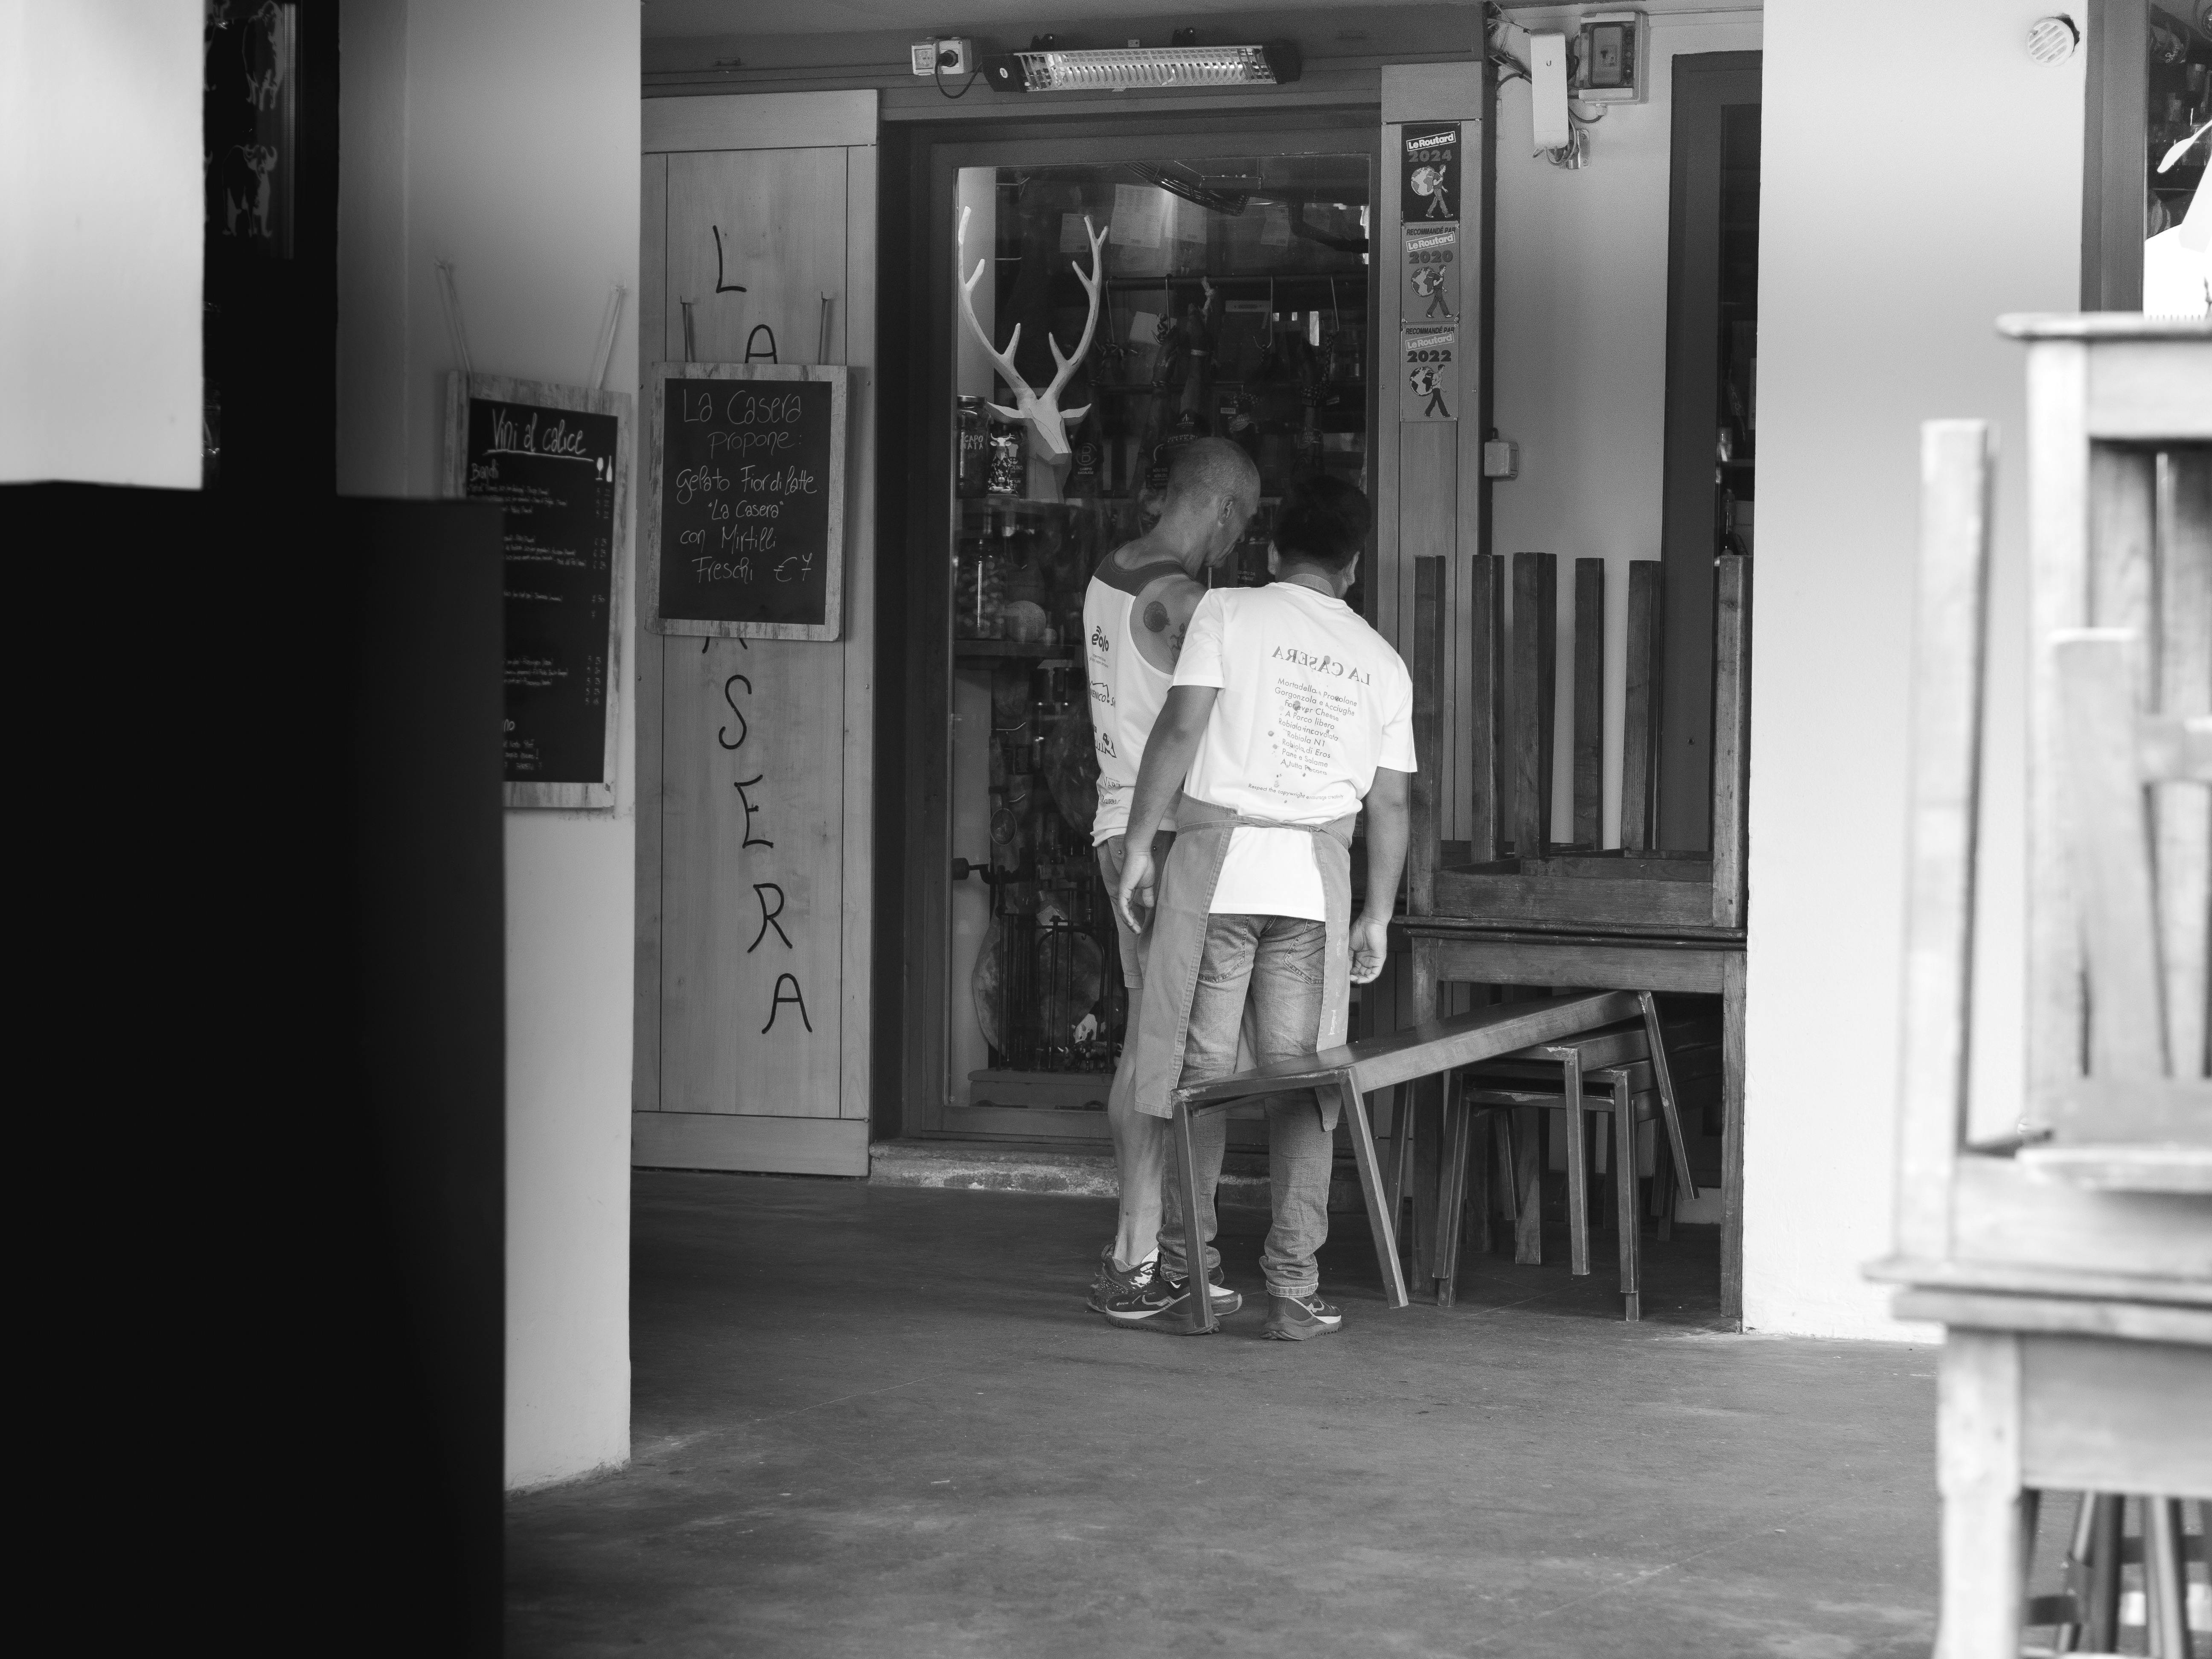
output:
[[[0,480],[199,489],[201,0],[0,0]]]

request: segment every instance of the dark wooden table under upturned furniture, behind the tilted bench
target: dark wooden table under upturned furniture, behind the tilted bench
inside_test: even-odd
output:
[[[1701,991],[1721,998],[1721,1314],[1743,1318],[1743,931],[1577,933],[1504,929],[1455,916],[1400,916],[1413,1020],[1438,1018],[1438,987],[1546,984],[1590,991]],[[1433,1155],[1431,1159],[1433,1161]],[[1416,1230],[1429,1243],[1438,1230]],[[1429,1263],[1431,1276],[1436,1263]]]

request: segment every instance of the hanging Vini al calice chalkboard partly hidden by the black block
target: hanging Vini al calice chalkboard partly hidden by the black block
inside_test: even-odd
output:
[[[507,805],[615,805],[628,394],[451,376],[445,487],[504,509]]]

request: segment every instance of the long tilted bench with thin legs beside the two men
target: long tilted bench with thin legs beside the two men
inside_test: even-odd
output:
[[[1276,1060],[1234,1077],[1217,1077],[1210,1084],[1177,1088],[1175,1144],[1181,1159],[1183,1217],[1186,1225],[1197,1225],[1199,1150],[1192,1128],[1206,1113],[1225,1113],[1239,1102],[1259,1095],[1290,1095],[1312,1091],[1318,1099],[1323,1091],[1336,1091],[1338,1106],[1352,1133],[1352,1157],[1360,1172],[1360,1199],[1367,1203],[1367,1225],[1374,1230],[1376,1263],[1383,1267],[1383,1296],[1391,1307],[1407,1305],[1405,1270],[1398,1263],[1398,1241],[1394,1230],[1394,1199],[1383,1188],[1383,1166],[1376,1157],[1374,1124],[1367,1117],[1367,1095],[1376,1088],[1394,1088],[1420,1077],[1471,1066],[1480,1060],[1498,1060],[1515,1048],[1537,1042],[1559,1042],[1577,1031],[1595,1031],[1619,1020],[1635,1020],[1644,1011],[1635,991],[1597,991],[1584,995],[1544,998],[1542,1002],[1504,1002],[1455,1020],[1429,1020],[1409,1031],[1394,1031],[1387,1037],[1367,1037],[1340,1048],[1323,1048],[1298,1060]],[[1199,1239],[1186,1239],[1188,1259],[1201,1263],[1197,1279],[1203,1281],[1206,1250]],[[1188,1296],[1190,1329],[1194,1334],[1214,1329],[1210,1296]]]

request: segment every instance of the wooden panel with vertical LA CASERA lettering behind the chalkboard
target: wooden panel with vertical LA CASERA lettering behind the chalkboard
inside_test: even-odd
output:
[[[845,292],[845,170],[843,148],[668,157],[670,356],[690,301],[697,363],[741,363],[757,323],[776,361],[816,361],[821,296]],[[843,307],[832,330],[843,358]],[[838,1115],[843,739],[841,648],[664,641],[664,1110]]]

